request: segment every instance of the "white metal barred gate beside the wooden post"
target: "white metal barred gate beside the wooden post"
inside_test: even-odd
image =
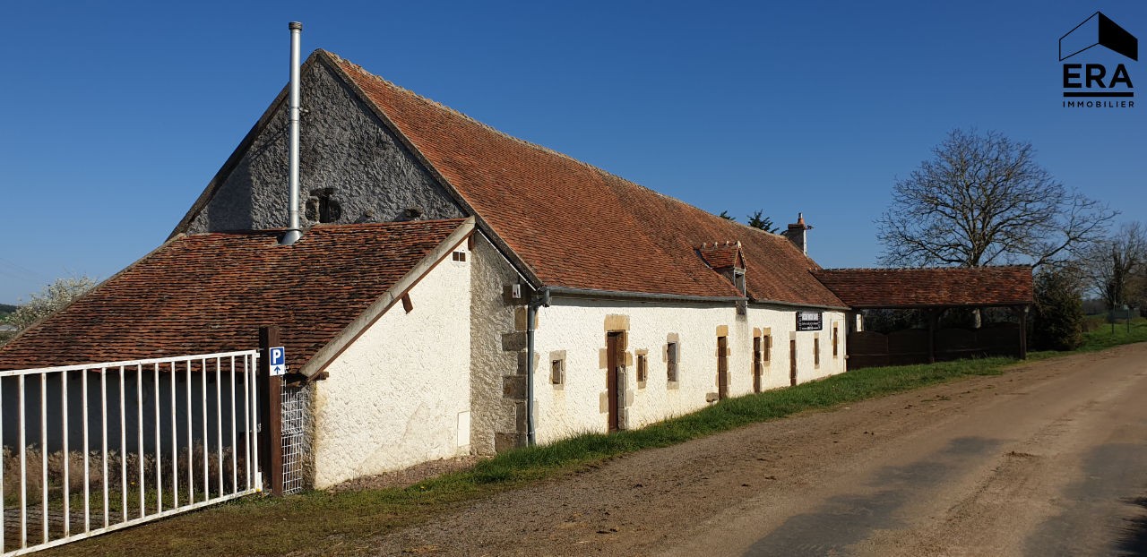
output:
[[[258,352],[0,371],[0,549],[260,492]]]

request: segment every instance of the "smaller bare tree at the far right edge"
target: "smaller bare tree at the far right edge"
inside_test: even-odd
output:
[[[1118,234],[1092,244],[1083,262],[1107,308],[1122,307],[1134,297],[1132,287],[1147,267],[1147,230],[1140,222],[1123,225]]]

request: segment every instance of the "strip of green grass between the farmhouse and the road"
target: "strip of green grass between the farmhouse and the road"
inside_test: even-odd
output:
[[[1132,323],[1131,332],[1124,330],[1113,335],[1109,328],[1087,332],[1079,351],[1142,340],[1147,340],[1147,321],[1140,320]],[[1054,355],[1051,352],[1031,354],[1032,359]],[[728,399],[641,430],[610,436],[586,433],[544,447],[510,450],[470,470],[407,488],[251,497],[64,546],[56,555],[281,555],[318,547],[329,551],[350,550],[359,548],[374,534],[610,457],[960,377],[999,375],[1014,363],[1014,359],[991,358],[861,369],[795,387]]]

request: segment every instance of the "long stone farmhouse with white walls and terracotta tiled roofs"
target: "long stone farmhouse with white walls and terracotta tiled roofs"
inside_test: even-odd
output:
[[[315,487],[845,371],[851,307],[803,218],[720,219],[325,50],[302,93],[295,244],[284,89],[166,243],[0,369],[243,350],[278,325]]]

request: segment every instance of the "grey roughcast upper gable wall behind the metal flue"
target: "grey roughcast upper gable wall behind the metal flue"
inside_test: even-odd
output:
[[[334,222],[465,217],[442,186],[325,63],[304,66],[299,163],[304,227],[313,190],[333,188]],[[188,233],[282,228],[288,206],[288,118],[281,103]]]

